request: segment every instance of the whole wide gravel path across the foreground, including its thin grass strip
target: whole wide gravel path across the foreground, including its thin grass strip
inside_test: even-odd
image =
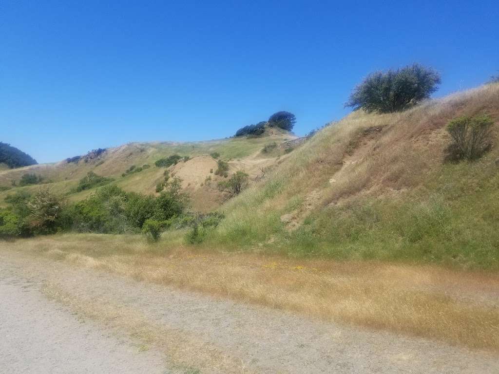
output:
[[[7,337],[0,342],[2,373],[165,373],[162,359],[199,368],[180,373],[487,374],[499,368],[499,358],[485,353],[2,250],[0,323],[0,336]],[[140,344],[148,350],[139,352]]]

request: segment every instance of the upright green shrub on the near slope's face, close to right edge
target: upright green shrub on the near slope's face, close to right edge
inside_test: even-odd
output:
[[[494,121],[486,115],[463,116],[449,122],[447,131],[452,144],[448,147],[450,160],[476,160],[491,147],[491,128]]]

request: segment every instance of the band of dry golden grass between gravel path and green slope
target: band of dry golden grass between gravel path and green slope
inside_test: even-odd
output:
[[[63,235],[2,247],[326,321],[499,352],[497,274],[193,252],[176,244],[165,250],[165,243],[133,236]]]

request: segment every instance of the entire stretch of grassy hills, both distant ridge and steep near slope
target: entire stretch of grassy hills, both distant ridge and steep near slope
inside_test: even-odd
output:
[[[446,161],[449,121],[484,113],[495,121],[491,151],[474,162]],[[193,209],[219,209],[225,215],[202,245],[498,268],[498,119],[499,84],[488,84],[404,112],[356,111],[305,142],[287,132],[267,131],[255,138],[132,143],[78,162],[2,171],[0,186],[36,173],[75,201],[92,192],[72,189],[94,171],[125,190],[155,193],[164,168],[154,167],[154,162],[178,154],[190,159],[169,172],[191,192]],[[286,150],[290,146],[293,152]],[[204,183],[210,176],[214,181],[223,178],[211,173],[217,167],[214,152],[229,162],[229,173],[245,170],[251,177],[250,187],[224,204],[219,192]],[[151,167],[124,174],[132,165]],[[11,188],[0,192],[0,199],[13,190],[36,188]]]

